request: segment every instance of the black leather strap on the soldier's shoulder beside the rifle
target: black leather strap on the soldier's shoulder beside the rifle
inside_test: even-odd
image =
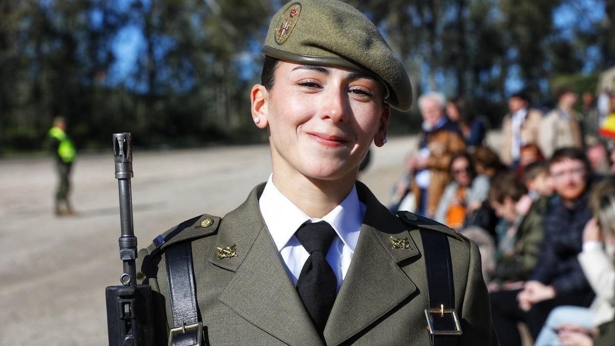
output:
[[[199,312],[192,267],[192,244],[190,241],[173,244],[165,249],[165,256],[173,327],[194,326],[199,323]],[[201,342],[197,337],[197,328],[185,328],[183,332],[172,332],[171,336],[173,346],[200,345]]]

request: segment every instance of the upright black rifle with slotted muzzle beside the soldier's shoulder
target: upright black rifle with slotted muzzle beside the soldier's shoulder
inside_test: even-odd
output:
[[[137,237],[132,221],[132,148],[130,133],[113,134],[115,177],[119,189],[121,236],[119,257],[124,265],[122,286],[105,289],[109,346],[153,345],[151,287],[137,284]]]

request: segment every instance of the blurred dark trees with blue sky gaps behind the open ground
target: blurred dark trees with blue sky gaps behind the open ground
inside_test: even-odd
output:
[[[106,148],[124,131],[141,147],[263,140],[248,94],[284,2],[0,1],[0,154],[39,150],[55,116],[78,148]],[[492,124],[506,112],[511,80],[545,99],[554,81],[593,91],[597,73],[615,63],[609,1],[347,2],[381,29],[415,95],[463,95]],[[562,28],[556,17],[566,11],[576,18]],[[119,43],[126,33],[137,37],[132,46]],[[119,47],[132,47],[133,60]],[[392,123],[412,131],[418,110],[394,113]]]

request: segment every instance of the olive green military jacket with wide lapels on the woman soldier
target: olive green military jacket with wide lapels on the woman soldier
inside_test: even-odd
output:
[[[154,294],[156,344],[166,345],[173,325],[165,248],[191,242],[197,303],[208,344],[322,345],[288,277],[258,206],[264,184],[223,218],[201,215],[138,254],[138,278]],[[419,228],[445,232],[450,244],[454,308],[461,321],[458,345],[497,345],[480,254],[475,243],[429,219],[397,217],[357,182],[367,206],[352,262],[327,321],[327,345],[429,345],[424,309],[427,278]],[[210,222],[210,220],[213,222]],[[203,222],[205,220],[205,222]],[[207,226],[207,227],[202,227]],[[393,249],[391,236],[410,248]],[[216,248],[236,244],[236,257]]]

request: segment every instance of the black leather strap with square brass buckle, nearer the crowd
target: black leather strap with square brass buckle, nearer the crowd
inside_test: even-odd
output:
[[[442,315],[426,312],[427,320],[431,319],[433,329],[437,331],[453,331],[458,329],[454,323],[454,318],[457,318],[456,313],[454,318],[452,313],[445,313],[446,309],[455,307],[453,267],[448,236],[439,231],[421,228],[421,239],[423,239],[423,254],[425,255],[429,309],[443,309]],[[457,345],[457,342],[458,337],[454,335],[431,334],[432,346],[452,346]]]

